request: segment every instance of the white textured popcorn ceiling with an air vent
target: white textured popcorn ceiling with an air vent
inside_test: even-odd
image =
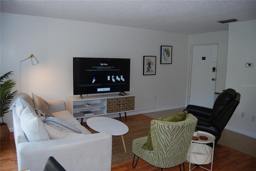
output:
[[[199,34],[256,19],[256,0],[1,0],[1,12]]]

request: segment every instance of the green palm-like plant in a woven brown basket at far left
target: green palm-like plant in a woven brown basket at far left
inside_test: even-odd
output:
[[[1,97],[1,103],[0,103],[0,117],[2,117],[2,122],[0,123],[0,135],[1,139],[5,139],[9,137],[10,130],[8,128],[7,123],[4,123],[4,114],[9,111],[9,105],[14,97],[14,95],[17,93],[18,90],[11,92],[12,88],[16,85],[16,82],[14,80],[10,80],[9,76],[12,75],[13,71],[7,72],[3,76],[1,76],[0,82],[1,82],[1,88],[0,88],[0,97]],[[4,81],[5,80],[5,81]]]

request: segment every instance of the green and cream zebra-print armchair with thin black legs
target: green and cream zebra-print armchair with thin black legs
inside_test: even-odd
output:
[[[184,121],[168,122],[152,120],[150,124],[153,150],[142,148],[146,143],[148,136],[134,139],[132,141],[132,152],[147,163],[163,168],[174,167],[186,161],[188,149],[194,130],[196,128],[197,118],[188,113]],[[132,166],[134,166],[134,159]],[[181,168],[180,168],[181,170]]]

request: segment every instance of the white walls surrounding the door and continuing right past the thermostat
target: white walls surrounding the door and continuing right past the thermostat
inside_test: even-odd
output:
[[[256,122],[251,119],[256,111],[255,35],[255,20],[253,20],[231,23],[229,31],[188,36],[188,60],[190,60],[191,45],[218,43],[216,92],[233,88],[241,93],[240,104],[225,128],[254,138],[256,138]],[[253,62],[254,67],[245,68],[245,62]],[[246,87],[248,85],[249,87]],[[245,113],[244,118],[241,118],[241,112]]]

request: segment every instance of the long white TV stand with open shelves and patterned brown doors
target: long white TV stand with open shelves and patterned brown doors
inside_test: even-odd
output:
[[[86,106],[89,103],[90,106]],[[125,113],[133,111],[135,105],[135,96],[127,93],[120,96],[112,95],[94,95],[81,97],[67,97],[67,109],[76,119],[82,119],[94,116],[111,115],[115,113]],[[91,111],[93,114],[82,114],[82,111]]]

